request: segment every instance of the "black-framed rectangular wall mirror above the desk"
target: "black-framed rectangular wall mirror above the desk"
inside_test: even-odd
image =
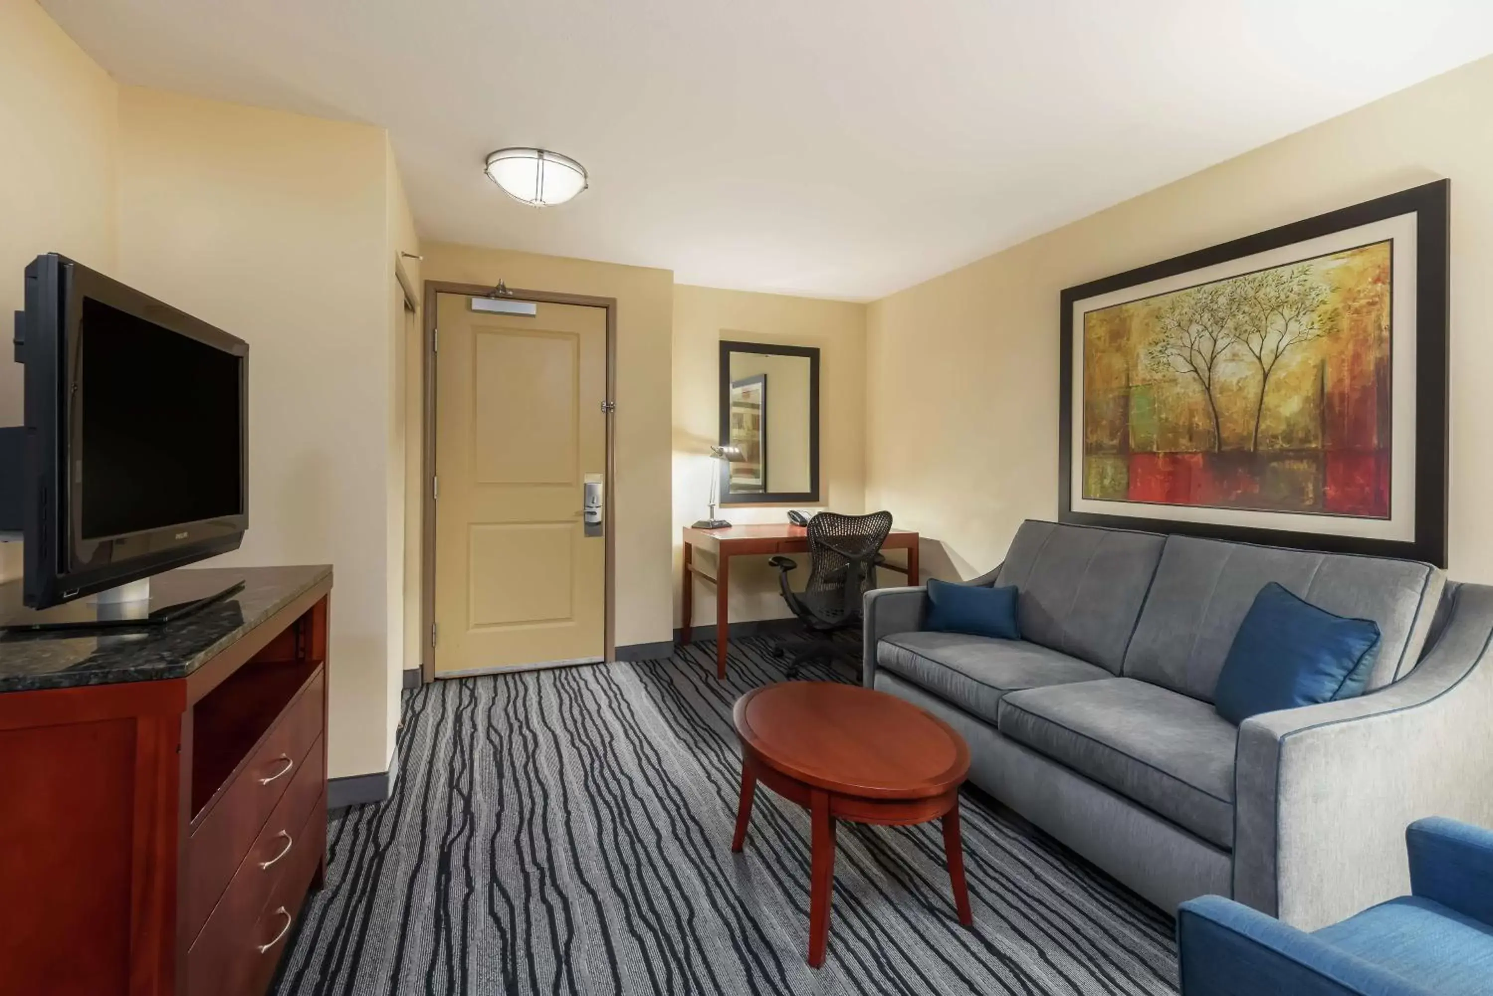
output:
[[[721,342],[721,505],[820,500],[820,351]]]

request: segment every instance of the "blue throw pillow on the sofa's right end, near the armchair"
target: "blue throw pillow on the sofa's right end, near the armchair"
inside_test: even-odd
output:
[[[1260,712],[1351,699],[1378,653],[1377,623],[1333,615],[1272,581],[1239,624],[1214,708],[1238,726]]]

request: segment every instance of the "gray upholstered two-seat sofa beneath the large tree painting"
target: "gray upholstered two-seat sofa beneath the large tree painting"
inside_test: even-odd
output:
[[[1381,647],[1357,699],[1218,717],[1268,581]],[[1405,827],[1493,826],[1493,587],[1424,563],[1029,521],[966,584],[1017,585],[1023,641],[923,630],[866,596],[866,684],[951,723],[970,781],[1166,911],[1232,896],[1302,929],[1408,891]]]

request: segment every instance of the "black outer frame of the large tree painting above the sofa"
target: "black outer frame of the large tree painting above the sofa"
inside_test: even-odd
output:
[[[1445,567],[1448,553],[1447,399],[1450,367],[1447,318],[1451,294],[1450,200],[1451,182],[1439,179],[1066,288],[1060,299],[1059,521],[1076,526],[1209,536],[1297,550],[1403,557]],[[1073,305],[1076,302],[1408,214],[1415,215],[1415,517],[1412,541],[1191,523],[1171,520],[1165,515],[1153,518],[1073,511]]]

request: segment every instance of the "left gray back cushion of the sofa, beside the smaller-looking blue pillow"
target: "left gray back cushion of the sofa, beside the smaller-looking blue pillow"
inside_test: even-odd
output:
[[[997,585],[1021,591],[1021,636],[1120,673],[1166,538],[1026,521]]]

